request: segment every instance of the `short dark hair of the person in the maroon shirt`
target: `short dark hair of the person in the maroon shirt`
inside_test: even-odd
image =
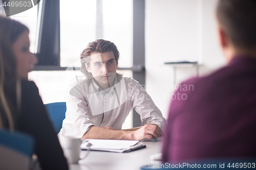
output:
[[[217,19],[235,48],[255,51],[255,0],[219,0]]]

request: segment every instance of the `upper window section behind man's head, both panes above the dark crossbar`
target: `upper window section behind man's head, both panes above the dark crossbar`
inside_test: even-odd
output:
[[[60,66],[73,63],[79,67],[79,56],[90,41],[96,39],[97,13],[102,13],[102,38],[117,45],[119,67],[133,66],[133,4],[132,0],[81,0],[72,8],[67,0],[60,1]],[[102,3],[102,11],[97,11]],[[98,8],[99,9],[99,8]],[[74,15],[71,15],[74,14]],[[101,29],[101,28],[100,28]],[[124,71],[121,71],[124,72]]]

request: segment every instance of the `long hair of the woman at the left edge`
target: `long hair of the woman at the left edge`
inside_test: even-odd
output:
[[[20,34],[29,29],[22,23],[0,16],[0,128],[5,127],[3,116],[8,120],[8,128],[15,129],[13,113],[10,109],[4,88],[7,80],[16,79],[17,111],[21,105],[20,80],[16,77],[16,59],[12,52],[12,45]]]

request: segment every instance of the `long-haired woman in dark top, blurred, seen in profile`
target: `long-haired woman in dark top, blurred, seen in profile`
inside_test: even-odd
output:
[[[0,128],[32,135],[42,169],[68,169],[38,89],[28,81],[36,63],[29,47],[29,29],[0,16]]]

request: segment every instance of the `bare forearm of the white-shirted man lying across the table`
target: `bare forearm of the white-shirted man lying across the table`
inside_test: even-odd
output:
[[[91,126],[90,129],[83,135],[82,139],[118,139],[118,140],[133,140],[133,134],[129,131],[111,130]]]

